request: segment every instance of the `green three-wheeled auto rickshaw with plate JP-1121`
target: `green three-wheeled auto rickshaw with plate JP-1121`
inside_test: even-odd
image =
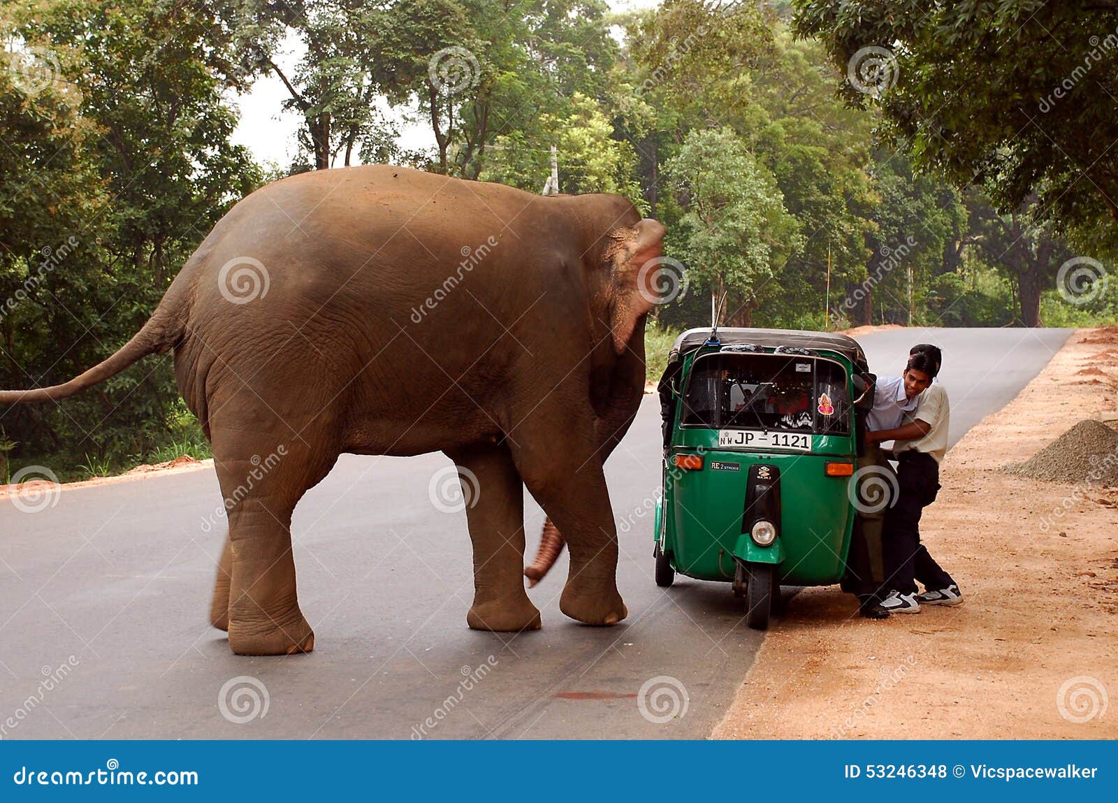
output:
[[[676,571],[730,582],[749,626],[765,630],[781,584],[839,583],[872,386],[862,348],[844,334],[681,334],[659,385],[656,584]]]

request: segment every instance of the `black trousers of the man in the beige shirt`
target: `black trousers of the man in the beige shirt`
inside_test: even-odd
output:
[[[925,452],[901,452],[899,462],[897,504],[885,511],[882,532],[885,587],[915,594],[919,580],[929,591],[947,588],[955,580],[920,544],[920,516],[939,492],[939,463]]]

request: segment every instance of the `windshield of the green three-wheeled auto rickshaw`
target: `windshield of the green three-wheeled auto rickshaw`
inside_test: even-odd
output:
[[[846,371],[839,362],[799,355],[719,352],[699,357],[691,370],[681,423],[846,435]]]

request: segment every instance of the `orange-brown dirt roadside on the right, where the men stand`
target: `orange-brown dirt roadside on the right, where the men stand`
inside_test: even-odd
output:
[[[921,535],[966,602],[872,622],[800,592],[712,737],[1118,737],[1118,489],[1001,471],[1116,391],[1118,330],[1077,331],[944,461]]]

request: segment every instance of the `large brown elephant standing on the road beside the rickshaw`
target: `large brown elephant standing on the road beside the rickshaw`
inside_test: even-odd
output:
[[[603,463],[642,398],[663,237],[614,195],[392,166],[301,173],[239,200],[119,351],[0,403],[61,399],[173,352],[225,498],[210,622],[234,653],[313,649],[291,519],[343,452],[442,451],[457,466],[473,494],[470,627],[540,627],[525,486],[570,550],[560,610],[610,625],[627,611]]]

